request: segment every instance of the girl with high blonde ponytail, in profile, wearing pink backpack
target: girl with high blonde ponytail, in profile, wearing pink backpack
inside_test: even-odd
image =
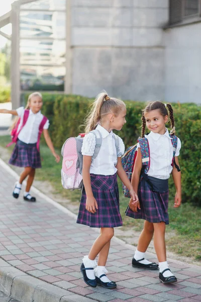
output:
[[[100,228],[100,235],[93,243],[89,254],[84,256],[80,267],[84,282],[92,287],[97,285],[106,288],[117,287],[117,284],[106,276],[108,271],[105,267],[114,228],[122,225],[117,175],[130,190],[132,201],[138,202],[138,197],[122,167],[121,157],[125,149],[123,140],[113,133],[114,129],[122,129],[126,123],[125,117],[124,102],[103,92],[95,99],[86,119],[85,131],[88,134],[83,138],[81,149],[84,186],[77,223]],[[91,161],[95,150],[95,136],[90,131],[94,129],[101,135],[102,144],[97,157]],[[116,141],[119,141],[119,147]]]

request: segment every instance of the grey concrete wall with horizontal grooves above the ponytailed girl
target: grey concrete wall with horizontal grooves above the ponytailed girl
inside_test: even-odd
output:
[[[72,93],[164,99],[168,0],[71,2]]]

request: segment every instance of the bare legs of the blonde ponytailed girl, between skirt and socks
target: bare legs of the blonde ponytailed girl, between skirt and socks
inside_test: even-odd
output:
[[[100,251],[102,251],[102,249],[105,248],[105,245],[109,243],[107,245],[107,247],[101,253],[101,255],[102,255],[101,260],[100,260],[100,257],[98,257],[98,262],[99,261],[101,261],[101,263],[106,262],[107,258],[108,258],[109,248],[110,248],[110,241],[113,238],[113,236],[114,236],[113,228],[101,228],[100,235],[93,243],[91,250],[88,254],[88,258],[90,260],[94,260],[95,257],[100,253]]]

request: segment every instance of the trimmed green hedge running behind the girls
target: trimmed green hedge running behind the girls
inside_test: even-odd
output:
[[[92,100],[74,95],[43,94],[43,113],[49,118],[50,134],[56,147],[61,148],[70,136],[84,131],[83,121]],[[127,123],[118,134],[126,147],[136,143],[141,133],[142,102],[125,101]],[[181,139],[182,148],[179,162],[182,171],[182,199],[201,205],[201,107],[195,104],[173,104],[176,135]],[[168,126],[168,125],[167,125]],[[175,190],[171,185],[170,194]]]

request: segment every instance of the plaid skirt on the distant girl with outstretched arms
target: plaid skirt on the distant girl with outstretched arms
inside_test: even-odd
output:
[[[36,143],[25,143],[18,139],[9,164],[17,167],[41,168],[41,157]]]

